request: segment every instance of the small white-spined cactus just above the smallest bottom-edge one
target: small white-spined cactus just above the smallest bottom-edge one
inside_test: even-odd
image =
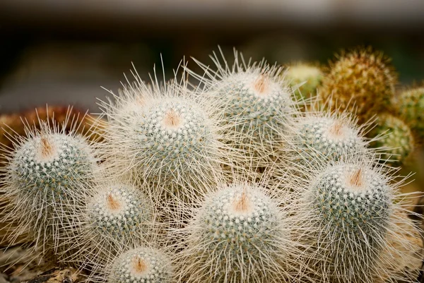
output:
[[[139,188],[105,180],[96,183],[92,191],[86,207],[75,207],[73,238],[64,235],[61,239],[65,244],[70,241],[70,248],[79,251],[64,260],[78,267],[103,265],[116,253],[134,248],[155,234],[153,203]]]

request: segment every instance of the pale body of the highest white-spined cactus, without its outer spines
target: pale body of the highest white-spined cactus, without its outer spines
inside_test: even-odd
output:
[[[214,99],[220,100],[225,119],[236,133],[245,138],[271,141],[276,129],[284,125],[293,114],[288,88],[273,76],[254,71],[240,71],[218,82]]]

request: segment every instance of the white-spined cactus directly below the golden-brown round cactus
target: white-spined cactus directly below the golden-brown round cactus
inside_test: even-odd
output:
[[[366,155],[363,130],[348,114],[307,112],[286,135],[285,149],[302,169],[322,168],[331,161]]]

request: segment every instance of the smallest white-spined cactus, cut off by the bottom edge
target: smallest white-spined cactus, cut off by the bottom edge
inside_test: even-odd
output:
[[[170,283],[170,259],[155,248],[134,248],[114,260],[109,283]]]

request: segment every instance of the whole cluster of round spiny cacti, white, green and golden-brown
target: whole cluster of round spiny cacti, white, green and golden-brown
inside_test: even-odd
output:
[[[4,147],[10,237],[29,231],[34,253],[90,282],[413,282],[399,265],[418,229],[379,164],[413,149],[408,126],[379,113],[394,99],[386,59],[351,52],[327,74],[212,59],[216,71],[196,61],[204,74],[112,93],[102,140],[27,125]],[[399,112],[418,123],[413,101]]]

